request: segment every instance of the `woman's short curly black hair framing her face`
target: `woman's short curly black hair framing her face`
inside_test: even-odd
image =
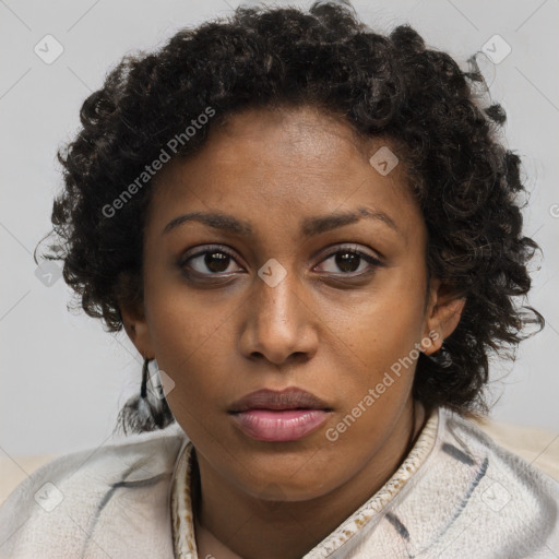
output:
[[[518,301],[530,290],[527,264],[539,247],[522,234],[521,160],[498,140],[502,107],[481,107],[475,61],[461,70],[409,25],[374,33],[349,4],[240,7],[182,28],[153,52],[122,58],[83,103],[83,128],[58,152],[66,189],[53,202],[51,233],[62,243],[46,258],[63,260],[64,281],[87,314],[121,330],[119,301],[142,300],[151,178],[141,188],[136,180],[118,218],[107,215],[110,204],[162,150],[190,156],[213,127],[245,108],[319,107],[397,146],[428,230],[428,273],[466,298],[442,348],[420,354],[414,396],[464,416],[487,414],[490,353],[514,358],[506,349],[545,322]],[[209,108],[215,116],[202,120]],[[206,121],[186,136],[187,127]],[[169,150],[174,138],[181,141]]]

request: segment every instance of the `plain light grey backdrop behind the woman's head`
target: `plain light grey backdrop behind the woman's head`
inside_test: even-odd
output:
[[[52,198],[61,187],[57,148],[72,139],[81,104],[123,55],[160,46],[179,27],[227,15],[236,5],[235,0],[0,0],[4,454],[103,444],[140,381],[142,361],[126,334],[108,334],[100,322],[70,313],[71,292],[63,280],[47,286],[46,273],[43,278],[36,275],[33,250],[50,230]],[[559,2],[356,0],[354,7],[381,33],[409,22],[430,46],[448,50],[461,66],[496,34],[512,48],[504,60],[484,70],[491,97],[508,112],[507,143],[521,155],[532,192],[526,234],[540,243],[545,258],[534,275],[531,302],[546,317],[547,328],[521,345],[514,365],[492,364],[492,417],[559,431]],[[34,51],[47,34],[64,49],[51,64]]]

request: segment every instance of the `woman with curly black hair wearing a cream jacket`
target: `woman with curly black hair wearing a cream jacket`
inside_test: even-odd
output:
[[[2,557],[559,556],[559,484],[472,421],[544,320],[471,62],[324,3],[123,59],[59,155],[49,258],[144,358],[135,435],[22,484]]]

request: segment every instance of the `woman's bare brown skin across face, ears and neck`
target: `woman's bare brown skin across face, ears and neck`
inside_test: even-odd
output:
[[[167,400],[200,467],[200,557],[300,558],[392,476],[425,424],[412,399],[414,362],[336,441],[325,437],[429,332],[424,352],[437,352],[464,305],[438,278],[427,286],[427,230],[404,164],[382,176],[369,163],[383,145],[313,107],[248,109],[156,177],[144,300],[121,311],[142,356],[175,382]],[[396,229],[361,218],[299,233],[305,218],[358,207],[384,212]],[[248,221],[253,235],[195,221],[162,234],[193,211]],[[233,258],[209,269],[198,255],[188,276],[180,258],[210,245]],[[383,265],[356,258],[340,267],[336,251],[347,247]],[[287,274],[275,287],[258,275],[271,258]],[[292,385],[333,408],[298,441],[253,440],[227,414],[249,392]]]

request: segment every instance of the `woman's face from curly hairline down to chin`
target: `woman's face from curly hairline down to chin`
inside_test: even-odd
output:
[[[173,379],[199,461],[249,495],[318,497],[407,442],[399,426],[433,322],[425,223],[386,148],[310,107],[251,109],[156,177],[131,337]],[[254,438],[229,413],[287,386],[329,408],[298,439]]]

